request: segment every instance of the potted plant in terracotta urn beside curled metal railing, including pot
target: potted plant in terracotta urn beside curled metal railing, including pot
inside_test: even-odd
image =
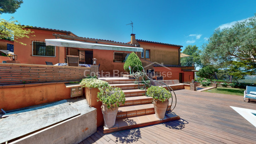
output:
[[[153,98],[156,117],[164,119],[169,104],[169,98],[171,98],[171,92],[164,87],[151,86],[147,89],[147,97]]]

